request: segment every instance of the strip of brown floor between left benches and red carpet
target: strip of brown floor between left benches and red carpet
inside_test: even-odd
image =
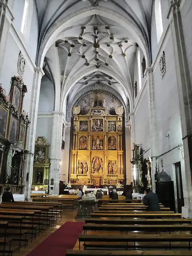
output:
[[[28,246],[26,249],[21,248],[20,252],[14,253],[13,256],[26,256],[31,250],[33,250],[36,246],[38,246],[41,242],[43,242],[50,234],[52,234],[54,231],[56,231],[60,226],[62,226],[66,221],[78,221],[75,220],[77,211],[74,209],[66,209],[63,211],[63,218],[61,222],[59,222],[56,226],[48,229],[48,231],[42,233],[40,236],[38,236],[35,240],[28,243]],[[79,220],[82,221],[82,220]]]

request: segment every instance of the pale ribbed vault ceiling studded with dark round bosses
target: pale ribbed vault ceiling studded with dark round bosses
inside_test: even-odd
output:
[[[76,94],[94,83],[111,86],[121,95],[122,104],[132,102],[136,51],[140,44],[131,28],[141,38],[150,62],[152,3],[153,0],[36,0],[39,56],[48,38],[58,31],[46,52],[44,71],[55,90],[60,87],[61,104],[64,99],[73,102]],[[95,13],[65,26],[68,17],[84,10]],[[118,14],[122,20],[126,18],[127,27],[122,26],[121,20],[99,15],[102,12],[98,10]]]

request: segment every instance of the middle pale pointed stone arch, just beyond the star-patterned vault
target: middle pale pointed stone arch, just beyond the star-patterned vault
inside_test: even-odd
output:
[[[81,72],[78,77],[76,76],[71,81],[71,84],[68,85],[68,90],[62,92],[62,97],[61,97],[62,99],[61,99],[61,104],[60,105],[61,106],[64,105],[64,102],[65,102],[65,100],[68,96],[68,93],[70,92],[70,90],[72,89],[74,84],[76,84],[84,76],[88,76],[88,75],[90,75],[90,74],[92,74],[93,72],[96,72],[96,71],[98,71],[97,68],[90,68],[88,70],[83,70],[83,73]],[[101,67],[99,69],[99,71],[107,74],[108,76],[111,76],[112,78],[114,78],[114,80],[116,80],[122,86],[122,88],[124,89],[124,92],[126,93],[126,95],[128,95],[129,104],[130,104],[130,112],[132,112],[132,110],[133,110],[133,95],[132,95],[132,92],[131,92],[131,88],[130,88],[130,86],[128,86],[127,82],[122,80],[122,78],[120,76],[117,76],[116,74],[112,73],[111,70],[108,70],[106,68]],[[116,93],[118,93],[117,90],[116,90]],[[122,102],[124,102],[124,100],[122,100]]]

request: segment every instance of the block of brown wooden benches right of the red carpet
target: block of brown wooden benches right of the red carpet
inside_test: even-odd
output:
[[[99,211],[91,214],[92,218],[85,220],[84,234],[78,236],[79,251],[70,250],[66,255],[192,255],[190,251],[192,220],[182,219],[182,214],[175,214],[169,208],[164,209],[163,205],[161,212],[146,212],[146,206],[141,204],[124,204],[123,207],[121,205],[110,205],[110,203],[102,205]],[[90,234],[90,231],[112,232],[112,234],[103,232]],[[115,234],[116,232],[119,234]],[[157,234],[158,232],[161,233]],[[81,242],[84,250],[80,250]],[[98,248],[100,251],[97,251]],[[123,253],[116,251],[117,248],[123,250]],[[87,252],[86,249],[91,250]],[[109,252],[107,249],[114,251]],[[136,251],[138,249],[140,250]],[[141,251],[141,249],[149,251]],[[153,249],[160,250],[152,251]],[[169,249],[170,252],[162,251],[163,249]],[[172,251],[172,249],[182,249],[182,251]]]

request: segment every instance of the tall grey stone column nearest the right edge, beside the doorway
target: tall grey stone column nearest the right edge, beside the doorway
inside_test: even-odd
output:
[[[183,187],[185,206],[188,207],[189,216],[192,216],[192,86],[186,56],[182,19],[179,8],[180,1],[170,4],[167,18],[169,19],[172,32],[174,59],[179,94],[180,117],[182,127],[182,140],[184,149],[186,186]],[[183,178],[184,180],[184,178]]]

